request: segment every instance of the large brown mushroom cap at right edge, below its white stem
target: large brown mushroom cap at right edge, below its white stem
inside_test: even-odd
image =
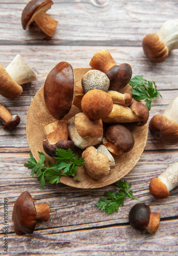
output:
[[[166,145],[178,143],[178,124],[164,115],[157,114],[149,122],[149,131],[155,139]]]

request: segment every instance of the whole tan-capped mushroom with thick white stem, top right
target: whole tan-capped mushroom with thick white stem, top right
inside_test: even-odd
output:
[[[156,34],[146,35],[142,46],[150,60],[164,61],[171,50],[178,48],[178,19],[167,20]]]

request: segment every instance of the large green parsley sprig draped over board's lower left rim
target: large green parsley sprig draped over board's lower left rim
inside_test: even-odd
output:
[[[54,157],[57,162],[51,163],[49,162],[50,167],[44,166],[45,155],[42,152],[38,152],[39,160],[38,162],[32,155],[30,151],[30,158],[28,163],[25,163],[24,166],[28,167],[28,169],[32,169],[32,177],[34,174],[37,174],[37,179],[41,183],[42,189],[45,186],[45,180],[48,180],[49,183],[60,183],[61,176],[72,176],[73,178],[80,180],[81,178],[76,178],[75,174],[78,171],[78,167],[85,164],[84,158],[74,157],[73,152],[69,149],[68,151],[62,150],[61,148],[56,148],[56,155]],[[63,170],[63,172],[61,172]]]

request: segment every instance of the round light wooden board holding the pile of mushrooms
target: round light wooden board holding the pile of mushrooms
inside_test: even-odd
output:
[[[90,70],[90,68],[74,69],[75,83],[77,86],[81,86],[81,78],[88,70]],[[122,89],[122,93],[124,92],[131,92],[131,88],[126,86]],[[70,112],[64,119],[68,120],[79,112],[81,112],[81,110],[72,105]],[[54,119],[46,109],[42,87],[32,100],[27,116],[27,138],[30,150],[36,161],[39,160],[38,152],[43,152],[45,154],[43,150],[43,140],[46,139],[46,136],[43,127],[54,121],[56,121],[56,119]],[[77,188],[98,188],[110,185],[128,174],[137,164],[144,151],[147,141],[148,125],[145,124],[144,126],[139,127],[134,124],[129,124],[129,129],[133,133],[135,139],[134,147],[130,152],[124,153],[121,157],[114,156],[116,166],[114,169],[110,170],[110,174],[107,177],[100,180],[94,180],[86,174],[82,166],[79,167],[76,175],[76,177],[81,177],[80,181],[69,176],[62,176],[61,182]],[[52,162],[54,159],[46,155],[46,164],[48,161]]]

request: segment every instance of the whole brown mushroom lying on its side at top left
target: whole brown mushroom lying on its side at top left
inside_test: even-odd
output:
[[[55,33],[58,21],[45,12],[53,5],[52,0],[32,0],[24,7],[21,14],[22,28],[26,30],[33,21],[48,36]]]

